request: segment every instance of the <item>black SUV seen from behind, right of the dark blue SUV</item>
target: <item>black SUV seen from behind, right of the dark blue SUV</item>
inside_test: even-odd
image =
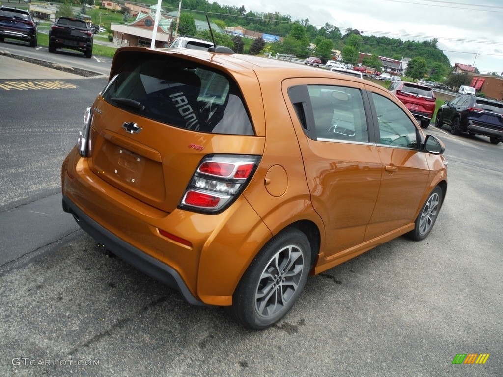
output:
[[[82,51],[87,58],[93,56],[93,30],[85,21],[60,17],[49,30],[49,52],[57,48]]]

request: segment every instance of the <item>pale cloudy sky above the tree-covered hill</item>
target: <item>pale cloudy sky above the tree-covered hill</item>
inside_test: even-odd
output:
[[[257,13],[279,12],[401,40],[431,40],[451,61],[481,73],[503,71],[502,0],[216,0]],[[476,4],[476,5],[475,5]],[[182,3],[183,6],[183,3]]]

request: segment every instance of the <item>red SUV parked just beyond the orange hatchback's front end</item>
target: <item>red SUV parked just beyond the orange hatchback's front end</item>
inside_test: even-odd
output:
[[[393,93],[410,111],[421,127],[428,128],[435,113],[435,92],[431,87],[413,82],[397,81],[390,85]]]

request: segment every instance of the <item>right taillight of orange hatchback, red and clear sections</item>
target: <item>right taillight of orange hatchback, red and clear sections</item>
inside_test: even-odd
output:
[[[214,154],[203,158],[180,203],[181,208],[216,213],[223,211],[244,190],[260,156]]]

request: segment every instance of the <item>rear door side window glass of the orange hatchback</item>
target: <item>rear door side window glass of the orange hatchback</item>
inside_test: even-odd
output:
[[[369,141],[362,93],[345,86],[309,85],[316,138],[321,141]]]

